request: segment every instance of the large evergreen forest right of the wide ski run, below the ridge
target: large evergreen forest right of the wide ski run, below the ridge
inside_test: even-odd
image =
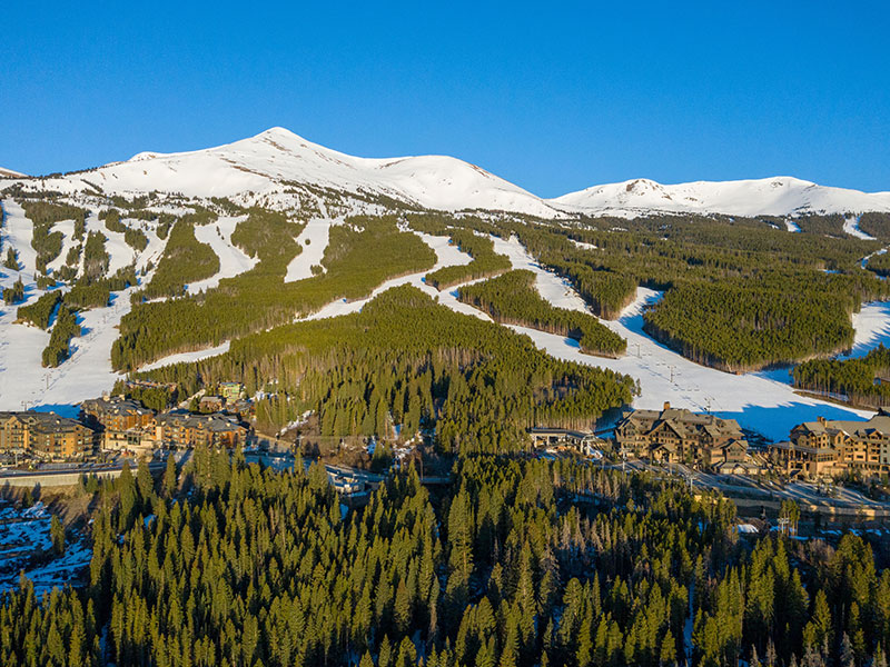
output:
[[[696,361],[740,370],[842,349],[852,340],[850,313],[890,296],[860,266],[878,241],[822,233],[822,226],[842,226],[840,218],[808,220],[818,232],[661,216],[591,219],[568,229],[504,226],[502,233],[516,233],[603,317],[616,316],[637,285],[665,290],[646,316],[650,332]]]

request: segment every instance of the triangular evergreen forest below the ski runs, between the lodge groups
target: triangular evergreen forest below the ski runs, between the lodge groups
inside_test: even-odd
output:
[[[226,380],[275,394],[257,406],[269,430],[314,410],[324,436],[388,438],[399,425],[406,439],[435,426],[438,448],[461,452],[525,447],[534,425],[589,427],[636,390],[626,376],[556,360],[411,287],[362,312],[278,327],[234,340],[220,357],[138,378],[176,382],[186,396]]]

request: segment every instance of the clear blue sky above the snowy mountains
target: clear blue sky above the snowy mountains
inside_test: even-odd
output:
[[[0,166],[284,126],[545,197],[636,177],[890,190],[886,2],[141,4],[3,6]]]

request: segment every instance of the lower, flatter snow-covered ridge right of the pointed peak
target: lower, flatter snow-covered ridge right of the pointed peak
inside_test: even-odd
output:
[[[555,207],[632,217],[645,211],[794,216],[890,211],[890,192],[860,192],[780,176],[663,186],[647,179],[594,186],[551,199]]]

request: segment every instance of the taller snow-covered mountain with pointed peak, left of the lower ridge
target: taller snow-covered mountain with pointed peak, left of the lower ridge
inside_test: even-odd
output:
[[[125,162],[46,179],[46,187],[63,192],[93,187],[106,193],[157,190],[186,197],[280,193],[289,183],[384,196],[431,209],[560,215],[531,192],[456,158],[356,158],[283,128],[205,150],[141,152]]]

